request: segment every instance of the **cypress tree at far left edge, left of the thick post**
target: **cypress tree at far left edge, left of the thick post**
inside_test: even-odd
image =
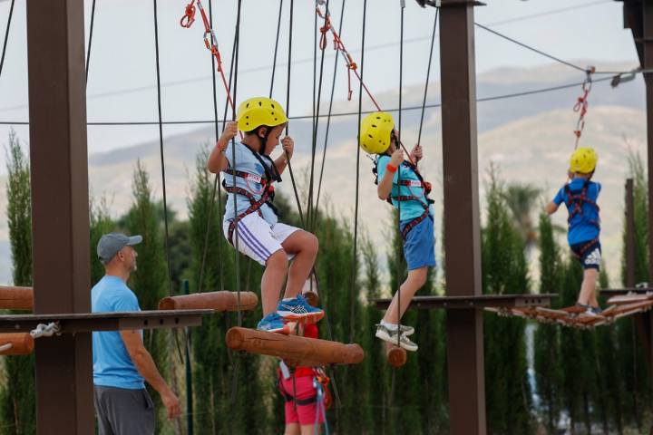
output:
[[[14,130],[5,149],[7,208],[14,285],[32,285],[32,209],[30,169]],[[10,312],[11,313],[11,312]],[[17,314],[18,312],[14,312]],[[0,412],[5,424],[0,433],[28,435],[36,432],[34,353],[3,358],[5,385],[0,391]]]

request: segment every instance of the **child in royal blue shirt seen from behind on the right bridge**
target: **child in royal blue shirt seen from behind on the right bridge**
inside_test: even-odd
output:
[[[575,150],[570,159],[570,182],[563,186],[546,206],[546,212],[550,215],[555,213],[563,202],[569,210],[567,239],[571,252],[579,259],[584,269],[576,305],[585,309],[585,314],[590,315],[601,312],[596,297],[601,262],[600,218],[596,201],[601,186],[591,181],[598,160],[597,153],[591,148]]]

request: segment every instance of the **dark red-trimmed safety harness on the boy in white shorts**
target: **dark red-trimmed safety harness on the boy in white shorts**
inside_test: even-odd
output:
[[[278,215],[278,209],[272,204],[272,201],[274,201],[275,197],[275,191],[274,191],[274,186],[272,185],[273,182],[281,181],[281,177],[279,176],[278,169],[274,164],[274,161],[269,158],[267,155],[260,155],[258,152],[251,150],[248,146],[243,145],[245,148],[247,148],[258,160],[258,162],[261,164],[263,167],[263,170],[265,172],[265,177],[260,177],[256,174],[250,174],[249,172],[244,172],[242,170],[237,170],[237,169],[224,169],[223,172],[225,174],[228,174],[230,176],[236,176],[239,177],[240,179],[245,179],[246,182],[252,181],[254,183],[260,184],[262,187],[262,190],[260,192],[260,199],[257,199],[254,197],[254,195],[248,190],[248,189],[243,189],[238,186],[227,186],[227,179],[222,180],[222,187],[231,194],[234,195],[242,195],[245,198],[249,199],[249,208],[247,208],[245,211],[240,213],[237,218],[231,219],[229,221],[229,243],[233,245],[233,233],[234,230],[236,229],[236,221],[240,220],[242,218],[245,218],[246,216],[258,212],[258,216],[262,216],[262,213],[260,211],[260,208],[263,207],[263,204],[267,204],[269,208],[272,209],[275,215]],[[263,160],[263,158],[267,158],[270,167],[266,164],[266,162]],[[249,183],[248,183],[249,185]]]

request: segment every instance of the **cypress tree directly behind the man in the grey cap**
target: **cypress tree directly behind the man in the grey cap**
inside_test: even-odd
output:
[[[140,160],[133,173],[132,195],[133,203],[127,213],[126,227],[131,235],[140,234],[143,241],[136,247],[138,270],[130,278],[130,287],[138,296],[141,309],[155,310],[161,298],[168,295],[167,266],[165,256],[162,254],[162,230],[152,200],[150,176]],[[167,376],[168,355],[171,354],[168,345],[169,333],[164,329],[154,329],[144,331],[143,335],[143,342],[164,379],[169,379]],[[151,396],[158,410],[157,433],[161,433],[166,424],[165,408],[161,405],[158,393],[151,391]]]

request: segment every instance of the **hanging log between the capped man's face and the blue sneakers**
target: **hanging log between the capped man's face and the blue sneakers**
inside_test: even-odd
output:
[[[240,310],[251,311],[258,304],[258,296],[252,292],[240,292]],[[215,311],[238,311],[238,292],[207,292],[164,297],[160,310],[196,310],[208,308]]]

